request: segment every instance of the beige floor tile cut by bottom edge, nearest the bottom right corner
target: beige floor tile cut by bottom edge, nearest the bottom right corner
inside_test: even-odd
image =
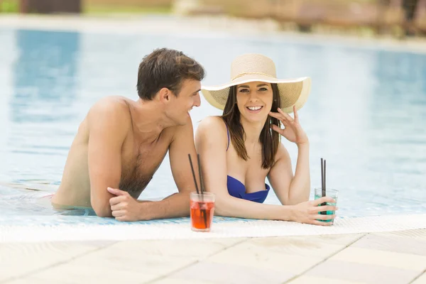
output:
[[[305,275],[371,284],[401,284],[409,283],[418,275],[418,272],[372,264],[327,260]]]

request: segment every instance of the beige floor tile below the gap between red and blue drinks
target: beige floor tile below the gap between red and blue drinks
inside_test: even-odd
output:
[[[311,268],[323,258],[315,256],[297,256],[264,249],[263,246],[244,242],[207,258],[208,261],[222,264],[238,264],[251,268],[272,271],[289,271],[299,274]]]

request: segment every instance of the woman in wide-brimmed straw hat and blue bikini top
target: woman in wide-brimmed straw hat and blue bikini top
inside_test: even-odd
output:
[[[231,78],[228,84],[202,88],[207,102],[224,112],[203,119],[195,135],[204,186],[216,195],[215,212],[227,217],[331,224],[318,220],[333,219],[334,215],[318,212],[335,207],[318,206],[334,200],[322,197],[308,201],[309,141],[297,109],[306,102],[310,78],[278,80],[273,61],[258,54],[236,58]],[[288,114],[292,111],[294,118]],[[295,175],[280,136],[297,145]],[[270,190],[266,177],[284,206],[263,204]]]

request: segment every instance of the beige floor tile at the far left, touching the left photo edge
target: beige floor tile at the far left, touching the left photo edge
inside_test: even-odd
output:
[[[0,281],[38,271],[95,251],[104,244],[77,242],[10,243],[0,245]]]

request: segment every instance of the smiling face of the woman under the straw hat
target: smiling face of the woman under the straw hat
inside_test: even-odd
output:
[[[241,118],[251,122],[265,122],[271,111],[273,91],[271,83],[248,82],[236,86],[236,104]]]

